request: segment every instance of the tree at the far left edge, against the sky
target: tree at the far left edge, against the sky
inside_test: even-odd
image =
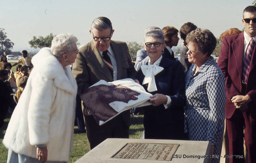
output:
[[[7,38],[5,29],[0,28],[0,55],[6,53],[6,55],[11,53],[14,43]]]

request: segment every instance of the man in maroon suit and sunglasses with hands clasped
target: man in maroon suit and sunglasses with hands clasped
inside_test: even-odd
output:
[[[218,65],[225,76],[226,126],[230,162],[243,162],[243,137],[248,162],[256,162],[256,7],[243,12],[245,31],[223,39]],[[237,155],[237,157],[236,157]]]

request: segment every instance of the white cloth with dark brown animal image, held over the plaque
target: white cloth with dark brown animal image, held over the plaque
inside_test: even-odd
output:
[[[109,83],[100,80],[89,87],[81,99],[86,114],[92,114],[96,122],[102,125],[127,109],[151,105],[147,102],[150,96],[132,79],[123,79]]]

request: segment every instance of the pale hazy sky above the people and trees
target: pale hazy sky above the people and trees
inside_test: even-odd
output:
[[[0,28],[14,43],[12,51],[35,51],[33,36],[72,33],[83,45],[92,40],[91,23],[108,17],[115,30],[112,40],[143,43],[146,27],[185,22],[210,30],[215,37],[230,29],[243,29],[242,13],[253,0],[0,0]],[[182,40],[180,39],[179,45]],[[178,45],[178,46],[179,46]]]

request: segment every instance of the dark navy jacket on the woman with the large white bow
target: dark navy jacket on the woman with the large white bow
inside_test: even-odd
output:
[[[147,63],[146,63],[147,64]],[[184,108],[185,105],[185,80],[182,65],[178,61],[173,61],[163,56],[159,66],[163,67],[163,71],[155,76],[157,91],[151,94],[163,94],[172,100],[169,108],[165,109],[164,105],[145,106],[144,109],[144,126],[156,125],[176,125],[184,129]],[[143,82],[144,75],[141,69],[138,72],[138,80]],[[142,85],[147,90],[147,84]],[[180,122],[180,123],[177,123]],[[168,131],[167,131],[168,130]],[[166,132],[174,132],[171,128]]]

